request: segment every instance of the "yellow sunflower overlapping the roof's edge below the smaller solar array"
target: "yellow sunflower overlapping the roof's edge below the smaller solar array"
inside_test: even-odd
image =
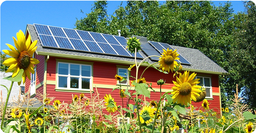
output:
[[[176,49],[174,51],[172,51],[172,49],[169,50],[169,48],[167,48],[167,51],[163,49],[163,53],[161,56],[162,57],[159,58],[160,61],[158,62],[160,64],[159,69],[162,69],[162,71],[170,72],[171,69],[172,72],[172,70],[176,68],[176,66],[178,66],[177,61],[175,61],[179,59],[179,54],[176,52]]]

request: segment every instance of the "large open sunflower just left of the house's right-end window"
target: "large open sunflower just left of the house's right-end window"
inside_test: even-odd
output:
[[[195,77],[195,73],[189,76],[189,71],[185,71],[183,75],[180,73],[179,78],[176,77],[177,82],[173,81],[175,86],[171,88],[173,90],[171,94],[174,94],[172,96],[173,103],[178,100],[177,104],[181,103],[181,105],[183,105],[184,102],[187,106],[188,103],[191,103],[191,99],[196,101],[196,96],[199,96],[198,93],[201,92],[201,90],[199,90],[201,86],[196,85],[200,83],[198,81],[200,79],[195,79]]]

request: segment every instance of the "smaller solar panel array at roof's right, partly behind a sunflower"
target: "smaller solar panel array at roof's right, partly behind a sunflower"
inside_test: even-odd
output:
[[[169,44],[167,43],[159,43],[159,42],[153,42],[153,41],[149,41],[149,43],[155,48],[157,49],[157,51],[159,51],[160,53],[163,53],[163,49],[167,50],[167,48],[169,48],[169,50],[174,50]],[[179,53],[179,52],[178,52]],[[190,64],[191,63],[186,60],[181,54],[179,54],[179,60],[176,60],[178,63],[182,63],[182,64]]]

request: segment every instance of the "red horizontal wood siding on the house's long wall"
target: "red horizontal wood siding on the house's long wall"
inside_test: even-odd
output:
[[[57,58],[57,59],[64,59],[64,58]],[[72,59],[76,60],[76,59]],[[83,60],[77,60],[77,61],[83,61]],[[105,62],[98,62],[98,61],[87,61],[87,62],[93,62],[93,84],[103,84],[103,85],[116,85],[116,80],[115,80],[115,74],[117,74],[117,64],[115,63],[105,63]],[[119,64],[120,65],[120,64]],[[129,65],[123,65],[129,67]],[[146,67],[141,67],[139,70],[139,76],[142,74],[143,70]],[[47,62],[47,80],[56,80],[56,58],[55,57],[50,57],[50,59]],[[135,77],[136,69],[135,67],[131,71],[131,75]],[[192,72],[191,72],[192,73]],[[163,85],[162,89],[169,89],[171,90],[171,87],[174,86],[172,81],[176,81],[176,78],[173,78],[173,73],[170,74],[164,74],[159,71],[157,71],[154,68],[148,68],[144,75],[142,77],[145,77],[146,82],[150,83],[152,82],[152,87],[153,88],[160,88],[159,85],[157,85],[157,80],[163,79],[166,81],[166,84],[169,85]],[[212,81],[212,87],[213,87],[213,92],[218,93],[218,75],[209,75],[211,77]],[[130,80],[135,80],[133,78],[130,78]],[[107,88],[97,88],[99,92],[99,97],[101,99],[104,99],[105,94],[111,94],[112,97],[115,99],[115,102],[117,102],[117,105],[122,105],[122,99],[119,96],[119,90],[116,89],[113,92],[112,88],[107,89]],[[95,86],[93,86],[94,93],[96,93]],[[132,90],[130,91],[132,92]],[[62,101],[65,101],[66,103],[72,102],[72,94],[73,95],[80,95],[81,93],[70,93],[70,92],[56,92],[55,91],[55,85],[47,85],[47,90],[46,93],[50,94],[49,97],[56,97],[56,99]],[[163,93],[162,93],[163,94]],[[90,93],[85,93],[86,97],[90,97]],[[142,95],[139,96],[141,98]],[[55,99],[55,100],[56,100]],[[148,102],[150,100],[159,100],[160,99],[160,92],[151,92],[150,99],[146,98]],[[142,100],[144,98],[142,97]],[[220,101],[219,101],[219,96],[213,96],[213,100],[208,100],[210,103],[210,109],[214,109],[214,111],[218,112],[220,110]],[[54,101],[51,102],[51,104]],[[128,99],[124,98],[124,107],[126,107]],[[194,106],[201,107],[201,103],[195,103],[192,102]],[[130,104],[134,104],[132,100],[130,100]],[[103,111],[104,113],[107,113],[106,110]]]

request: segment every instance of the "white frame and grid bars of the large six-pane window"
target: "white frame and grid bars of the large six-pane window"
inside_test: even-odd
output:
[[[68,75],[59,74],[59,64],[68,64]],[[76,64],[76,63],[66,63],[66,62],[57,62],[57,88],[63,89],[63,90],[92,90],[92,65],[86,65],[86,64]],[[70,75],[70,65],[79,65],[79,76]],[[90,67],[90,76],[82,76],[82,66],[89,66]],[[67,87],[59,87],[59,77],[68,77],[67,78]],[[79,86],[78,88],[71,88],[70,87],[70,79],[71,77],[79,78]],[[90,88],[89,89],[82,89],[82,78],[90,79]]]

